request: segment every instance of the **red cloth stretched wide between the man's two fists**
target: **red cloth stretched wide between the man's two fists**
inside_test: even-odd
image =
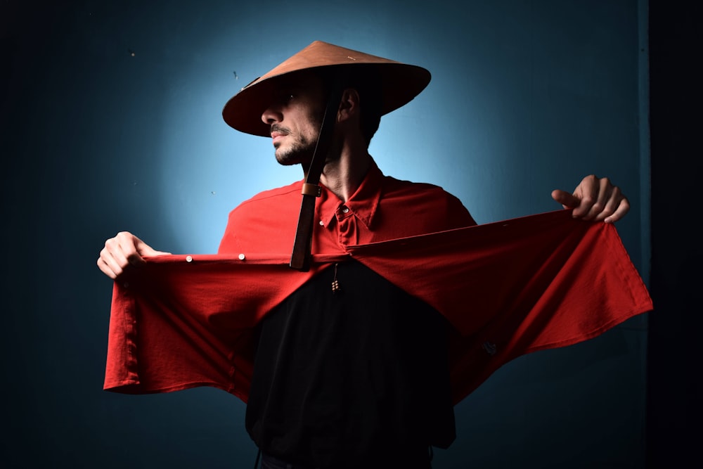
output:
[[[325,266],[349,258],[453,325],[455,403],[521,354],[593,338],[652,309],[614,226],[574,220],[567,210],[347,246],[314,255],[307,273],[288,268],[288,254],[243,254],[154,257],[115,283],[105,389],[209,385],[246,401],[254,325]]]

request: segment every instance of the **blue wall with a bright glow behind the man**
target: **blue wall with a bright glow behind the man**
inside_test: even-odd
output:
[[[214,252],[231,208],[302,177],[220,112],[315,39],[432,72],[382,119],[370,152],[386,174],[443,186],[479,223],[557,210],[553,188],[610,176],[633,204],[618,227],[647,274],[642,1],[44,3],[0,6],[13,467],[253,465],[244,405],[224,392],[101,390],[111,283],[95,261],[121,230]],[[508,364],[457,406],[458,439],[435,467],[641,466],[645,338],[637,318]]]

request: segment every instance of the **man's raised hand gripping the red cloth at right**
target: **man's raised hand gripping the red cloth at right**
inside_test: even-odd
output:
[[[552,191],[552,198],[564,208],[574,209],[574,218],[588,221],[614,223],[630,210],[630,203],[618,186],[613,186],[607,177],[586,176],[570,194]]]

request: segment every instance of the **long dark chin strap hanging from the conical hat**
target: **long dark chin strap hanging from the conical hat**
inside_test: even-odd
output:
[[[312,230],[314,227],[315,202],[321,195],[319,186],[320,176],[325,167],[325,160],[330,150],[332,134],[337,120],[337,110],[342,100],[342,86],[335,82],[330,89],[327,99],[325,115],[322,119],[322,127],[318,135],[315,151],[307,169],[305,182],[302,187],[302,205],[298,217],[298,226],[295,231],[293,242],[293,252],[290,256],[290,267],[302,272],[310,270],[310,258],[312,248]]]

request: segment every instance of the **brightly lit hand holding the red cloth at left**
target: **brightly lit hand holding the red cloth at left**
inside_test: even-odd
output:
[[[145,261],[143,256],[162,256],[170,252],[157,251],[141,239],[127,231],[117,233],[115,238],[105,241],[105,248],[98,257],[98,269],[106,276],[115,279],[129,266],[139,266]]]

